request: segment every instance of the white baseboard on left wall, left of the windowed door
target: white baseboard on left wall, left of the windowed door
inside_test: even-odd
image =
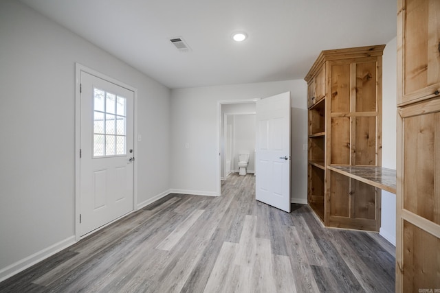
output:
[[[0,269],[0,282],[4,281],[5,279],[8,279],[12,277],[14,274],[18,274],[19,272],[30,268],[31,266],[34,266],[35,263],[39,263],[43,259],[47,259],[47,257],[51,257],[55,253],[59,253],[61,250],[73,245],[76,243],[75,235],[61,240],[61,242],[58,242],[52,246],[49,246],[47,248],[44,248],[43,250],[40,250],[37,253],[34,253],[33,255],[30,255],[29,257],[25,257],[24,259],[21,259],[15,263],[12,263],[10,266],[7,266],[5,268]]]

